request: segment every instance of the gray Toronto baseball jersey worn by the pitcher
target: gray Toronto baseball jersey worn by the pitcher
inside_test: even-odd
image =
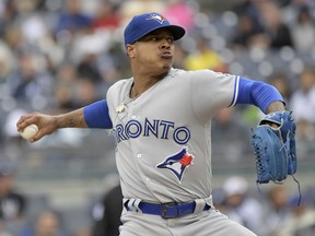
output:
[[[211,118],[233,105],[237,78],[172,69],[135,99],[132,81],[118,81],[107,93],[124,197],[162,203],[209,198]]]

